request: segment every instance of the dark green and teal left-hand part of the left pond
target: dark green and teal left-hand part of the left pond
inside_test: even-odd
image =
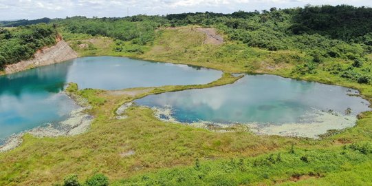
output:
[[[61,63],[0,76],[0,140],[67,118],[77,105],[59,92],[71,65]]]

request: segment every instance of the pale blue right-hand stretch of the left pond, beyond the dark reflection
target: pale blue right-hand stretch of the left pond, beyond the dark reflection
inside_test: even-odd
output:
[[[122,57],[87,57],[76,59],[67,81],[80,88],[117,90],[128,87],[205,84],[221,77],[222,72],[188,65],[156,63]],[[89,65],[88,65],[89,64]]]

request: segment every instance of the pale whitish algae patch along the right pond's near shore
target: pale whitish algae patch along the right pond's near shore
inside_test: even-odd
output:
[[[152,107],[154,116],[162,121],[169,123],[182,123],[173,117],[171,106]],[[193,123],[182,123],[193,127],[200,127],[215,132],[230,132],[231,129],[237,129],[254,132],[259,135],[277,135],[303,138],[320,138],[320,135],[326,134],[329,130],[344,130],[353,127],[357,121],[354,115],[343,115],[335,112],[325,112],[314,109],[314,112],[308,112],[303,116],[302,121],[298,123],[283,123],[273,125],[270,123],[214,123],[210,121],[197,121]]]

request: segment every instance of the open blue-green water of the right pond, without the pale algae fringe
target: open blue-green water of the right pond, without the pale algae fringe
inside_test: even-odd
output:
[[[369,110],[347,88],[284,79],[272,75],[248,75],[232,85],[146,96],[135,101],[150,107],[171,107],[177,121],[193,123],[308,123],[309,112],[333,110],[351,114]]]

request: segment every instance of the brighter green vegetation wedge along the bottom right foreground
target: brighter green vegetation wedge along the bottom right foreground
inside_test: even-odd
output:
[[[361,143],[362,144],[362,143]],[[194,165],[164,169],[121,180],[113,185],[364,185],[371,181],[372,146],[367,152],[345,145],[336,149],[287,149],[255,158],[195,160]],[[365,165],[365,167],[358,167]],[[362,176],[344,176],[357,166]],[[363,178],[366,176],[366,178]],[[353,179],[350,179],[353,178]],[[318,183],[317,179],[321,179]]]

